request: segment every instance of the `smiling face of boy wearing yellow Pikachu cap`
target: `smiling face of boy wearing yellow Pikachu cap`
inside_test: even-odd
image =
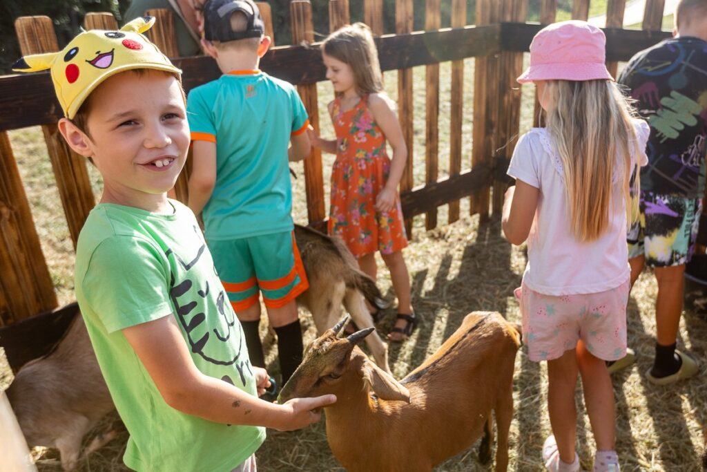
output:
[[[102,202],[158,211],[187,158],[189,125],[174,76],[144,69],[106,79],[90,95],[82,132],[62,134],[103,175]]]

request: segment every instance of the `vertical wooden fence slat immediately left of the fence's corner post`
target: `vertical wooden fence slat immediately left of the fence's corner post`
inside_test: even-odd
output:
[[[496,0],[477,0],[477,25],[489,25],[500,20],[501,4]],[[476,166],[493,165],[493,149],[498,125],[498,54],[477,57],[474,67],[474,145],[472,170]],[[472,193],[471,214],[479,213],[479,221],[489,221],[489,184]]]

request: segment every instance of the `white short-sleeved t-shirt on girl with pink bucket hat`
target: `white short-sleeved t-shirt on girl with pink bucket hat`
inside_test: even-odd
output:
[[[645,166],[650,127],[642,120],[634,120],[634,125],[641,149],[638,163]],[[633,152],[633,146],[631,149]],[[631,155],[632,168],[635,162],[636,156]],[[621,178],[614,178],[614,205],[604,234],[594,241],[580,242],[570,228],[563,166],[547,129],[532,128],[520,137],[508,175],[540,190],[527,238],[523,282],[528,288],[547,295],[590,294],[614,289],[628,280],[631,270]]]

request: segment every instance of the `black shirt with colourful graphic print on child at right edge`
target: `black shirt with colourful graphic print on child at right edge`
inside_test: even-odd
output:
[[[636,54],[619,76],[650,125],[641,190],[701,198],[707,137],[707,42],[681,37]]]

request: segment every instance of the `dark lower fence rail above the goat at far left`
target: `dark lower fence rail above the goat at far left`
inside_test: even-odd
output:
[[[0,328],[0,346],[12,371],[17,372],[30,360],[52,352],[77,314],[78,304],[72,303]]]

